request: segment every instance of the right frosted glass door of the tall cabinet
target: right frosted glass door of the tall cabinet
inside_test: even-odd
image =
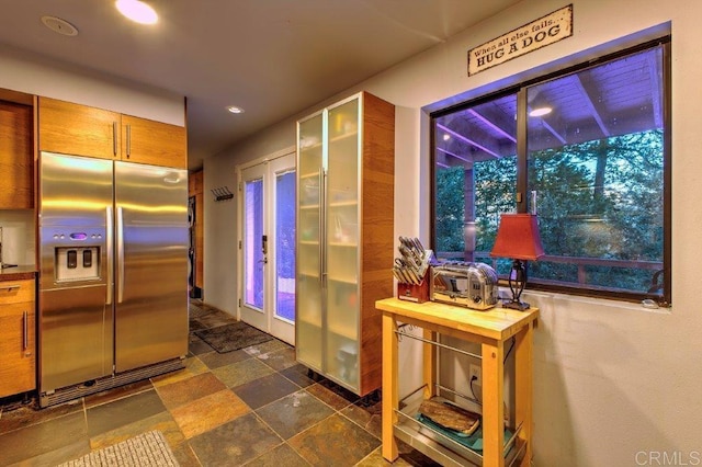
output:
[[[329,109],[326,254],[329,376],[359,387],[359,99]]]

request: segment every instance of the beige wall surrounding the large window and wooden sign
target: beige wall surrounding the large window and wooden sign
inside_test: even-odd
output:
[[[695,458],[702,459],[698,455],[702,453],[698,430],[702,420],[702,365],[698,363],[702,353],[702,310],[698,303],[699,266],[693,252],[699,250],[702,207],[692,190],[702,180],[702,166],[698,162],[702,147],[699,130],[702,2],[574,0],[573,3],[571,38],[468,78],[469,48],[567,4],[525,0],[337,98],[364,89],[398,106],[395,231],[420,235],[427,240],[428,109],[458,94],[463,99],[478,95],[487,89],[597,56],[608,43],[616,42],[616,47],[621,47],[622,37],[641,31],[661,24],[658,31],[670,27],[675,305],[650,311],[631,304],[529,294],[529,301],[542,309],[534,348],[534,464],[664,465],[656,459],[663,463],[668,458],[677,459],[678,465],[695,465]],[[630,37],[626,42],[641,38],[641,35]],[[301,112],[299,116],[321,104]],[[206,160],[205,187],[231,185],[236,163],[293,145],[294,122],[295,118],[283,122]],[[214,204],[207,200],[205,210],[205,299],[236,312],[236,201]],[[407,354],[400,365],[406,372],[419,371]],[[654,452],[652,457],[649,452]],[[652,458],[653,464],[648,463]]]

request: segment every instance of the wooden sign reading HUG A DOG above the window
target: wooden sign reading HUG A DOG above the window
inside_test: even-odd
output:
[[[573,35],[573,4],[468,50],[468,76]]]

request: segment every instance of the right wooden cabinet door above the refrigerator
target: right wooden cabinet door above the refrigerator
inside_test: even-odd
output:
[[[185,128],[122,115],[122,160],[186,169]]]

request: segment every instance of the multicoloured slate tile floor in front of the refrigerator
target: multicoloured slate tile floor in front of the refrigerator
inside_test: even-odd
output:
[[[231,322],[190,306],[185,368],[36,409],[0,400],[0,466],[55,466],[160,430],[183,467],[383,466],[381,403],[310,379],[292,346],[271,340],[219,354],[192,331]],[[433,466],[401,446],[396,466]]]

